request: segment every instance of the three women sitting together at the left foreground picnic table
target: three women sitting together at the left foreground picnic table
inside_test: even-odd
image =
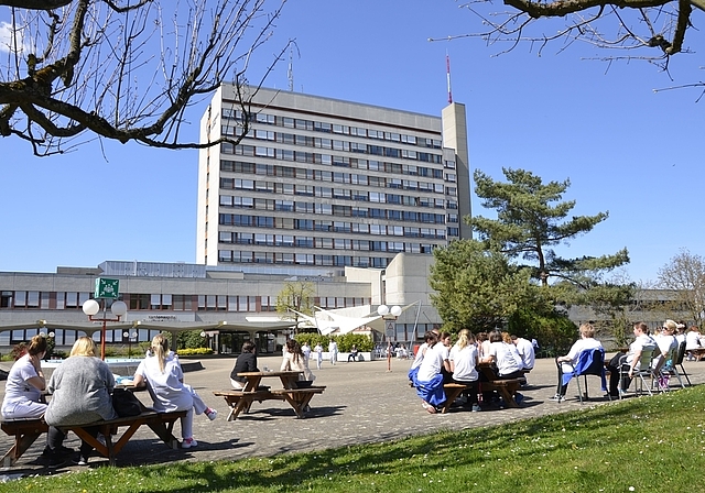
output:
[[[50,468],[72,460],[85,465],[94,450],[93,446],[82,441],[78,453],[64,447],[66,434],[62,427],[116,419],[118,414],[111,397],[116,386],[115,376],[108,364],[96,357],[93,339],[80,337],[69,357],[46,382],[41,365],[46,349],[43,336],[32,338],[26,352],[15,361],[8,374],[0,412],[4,420],[43,418],[50,425],[46,447],[42,452],[42,460]],[[156,412],[187,410],[181,419],[182,448],[197,445],[193,437],[194,414],[205,414],[210,420],[218,414],[184,383],[178,357],[169,350],[169,341],[164,336],[159,335],[152,340],[147,357],[134,373],[133,385],[147,386]],[[45,392],[52,395],[48,404],[43,402]],[[97,427],[83,428],[100,439]]]

